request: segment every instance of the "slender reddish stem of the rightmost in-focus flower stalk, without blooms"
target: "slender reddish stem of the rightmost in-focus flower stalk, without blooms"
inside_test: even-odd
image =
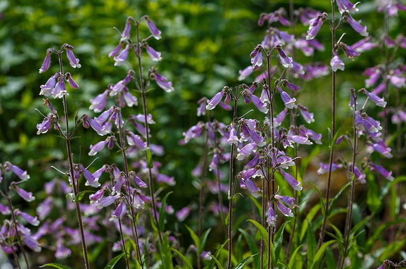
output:
[[[347,256],[347,250],[348,250],[348,244],[349,244],[349,234],[350,234],[350,228],[351,228],[351,221],[352,221],[352,204],[354,202],[354,189],[355,189],[355,174],[354,174],[354,170],[355,170],[355,159],[356,159],[356,126],[355,126],[355,112],[356,112],[356,96],[354,95],[354,91],[353,89],[351,90],[351,94],[354,98],[354,115],[352,117],[352,126],[354,128],[354,145],[352,147],[352,169],[351,169],[351,190],[350,190],[350,197],[349,197],[349,201],[348,201],[348,216],[347,216],[347,220],[346,220],[346,226],[345,226],[345,230],[344,230],[344,254],[343,254],[343,258],[341,260],[341,265],[340,265],[340,269],[342,269],[343,265],[344,265],[344,260],[345,257]]]

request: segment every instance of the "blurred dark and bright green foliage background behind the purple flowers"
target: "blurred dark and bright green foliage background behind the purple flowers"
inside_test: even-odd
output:
[[[374,1],[361,1],[355,18],[362,19],[369,32],[379,37],[383,31],[384,19],[383,14],[377,13],[375,4]],[[167,94],[152,86],[148,92],[148,109],[157,123],[151,126],[152,142],[164,146],[165,155],[158,157],[164,164],[162,172],[176,180],[176,185],[167,189],[173,191],[169,203],[175,209],[182,208],[191,201],[197,203],[199,190],[194,184],[197,179],[191,175],[191,171],[199,162],[203,146],[199,143],[180,146],[178,140],[182,139],[182,133],[190,126],[203,120],[196,117],[198,99],[203,96],[211,97],[224,85],[238,85],[238,71],[250,64],[249,53],[263,38],[265,28],[257,26],[259,14],[280,7],[289,10],[288,1],[0,1],[0,162],[10,160],[27,169],[31,179],[26,183],[26,189],[37,193],[37,200],[41,201],[44,183],[58,177],[57,172],[50,169],[50,165],[62,162],[66,156],[64,142],[55,133],[36,135],[35,125],[43,117],[35,109],[45,111],[42,98],[38,95],[39,86],[58,69],[53,66],[47,73],[38,73],[47,48],[58,48],[65,42],[74,47],[82,67],[70,69],[80,88],[69,91],[69,110],[71,115],[76,110],[79,110],[79,115],[88,113],[89,99],[126,74],[125,66],[114,67],[113,59],[107,56],[119,40],[119,34],[113,27],[122,30],[127,16],[137,19],[147,14],[162,31],[162,40],[150,43],[155,49],[162,51],[163,61],[159,64],[158,71],[168,77],[175,88],[174,92]],[[331,9],[330,1],[327,0],[295,0],[294,7],[311,7],[327,13]],[[402,12],[399,12],[398,17],[390,19],[392,37],[405,32],[405,22],[406,15]],[[141,30],[142,33],[148,32],[145,25]],[[295,33],[305,33],[306,30],[301,24],[295,27]],[[340,27],[337,37],[344,32],[347,34],[343,41],[347,44],[360,39],[347,24]],[[331,58],[331,33],[327,27],[322,27],[318,40],[325,44],[325,51],[315,52],[310,58],[297,52],[295,60],[299,63],[328,64]],[[403,61],[405,51],[399,50],[398,55],[400,61]],[[353,61],[345,60],[345,71],[337,75],[337,125],[344,130],[350,130],[351,125],[347,105],[349,88],[363,87],[364,69],[381,62],[379,49],[365,52]],[[53,63],[55,64],[55,58]],[[250,83],[253,79],[251,76],[245,82]],[[330,99],[330,76],[306,81],[302,85],[299,101],[314,113],[316,121],[311,127],[324,137],[324,144],[313,152],[314,157],[310,160],[304,180],[316,182],[321,188],[326,177],[317,177],[315,170],[319,162],[327,162],[327,128],[331,125]],[[56,100],[53,103],[54,106],[61,107]],[[404,97],[401,97],[400,103],[404,103]],[[277,111],[282,109],[282,105],[277,105]],[[131,114],[142,113],[142,106],[132,109]],[[379,111],[374,107],[369,110],[371,115],[376,115]],[[221,111],[216,111],[216,118],[226,123],[231,119],[230,113]],[[394,130],[395,126],[390,125],[390,128]],[[75,162],[81,159],[82,162],[90,163],[88,146],[98,142],[100,137],[83,128],[79,128],[77,135],[79,138],[72,141]],[[304,155],[308,154],[306,150],[303,149]],[[96,167],[112,162],[121,164],[119,154],[105,151],[98,156],[100,158],[96,160]],[[392,159],[386,167],[395,171],[399,166],[401,173],[404,172],[404,164],[404,158]],[[334,190],[338,190],[347,180],[344,172],[336,173],[334,178]],[[379,185],[376,186],[378,187]],[[368,190],[359,190],[358,197],[370,197],[371,194],[367,192]],[[404,196],[400,199],[404,202]],[[343,204],[345,205],[345,199]],[[34,212],[36,205],[35,201],[29,205],[20,203],[19,206]],[[197,210],[194,210],[192,216],[196,213]],[[381,214],[384,218],[385,212]],[[189,218],[186,222],[196,227],[196,218]],[[216,222],[215,217],[209,216],[204,227],[210,227]],[[186,231],[182,225],[173,226],[169,221],[169,229],[179,229],[181,233]],[[218,233],[221,234],[222,231]],[[190,242],[190,238],[185,236],[185,241]]]

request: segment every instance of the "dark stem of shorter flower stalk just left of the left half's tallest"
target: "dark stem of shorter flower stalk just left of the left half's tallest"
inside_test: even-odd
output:
[[[134,212],[134,207],[133,207],[133,200],[132,200],[132,195],[130,191],[130,181],[129,181],[129,173],[128,173],[128,164],[127,164],[127,155],[125,154],[125,142],[124,142],[124,136],[123,136],[123,128],[121,126],[121,112],[119,115],[118,119],[118,134],[120,138],[120,148],[121,148],[121,155],[123,159],[123,167],[124,167],[124,174],[125,174],[125,180],[127,182],[127,192],[128,192],[128,199],[129,199],[129,207],[130,207],[130,213],[131,213],[131,219],[132,219],[132,227],[134,228],[133,231],[133,236],[134,236],[134,241],[137,246],[137,258],[142,262],[142,256],[141,256],[141,251],[140,251],[140,243],[138,240],[138,232],[137,232],[137,223],[136,223],[136,213]]]

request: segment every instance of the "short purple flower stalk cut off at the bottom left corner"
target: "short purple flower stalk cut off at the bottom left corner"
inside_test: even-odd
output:
[[[20,180],[12,181],[10,185],[7,183],[6,172],[12,172]],[[27,254],[24,250],[24,246],[27,246],[35,252],[41,251],[41,246],[38,241],[31,235],[31,230],[26,228],[25,225],[18,221],[19,217],[23,220],[23,223],[26,222],[32,226],[38,226],[39,220],[37,217],[33,217],[28,213],[20,211],[18,208],[13,206],[11,201],[11,196],[9,190],[15,191],[21,198],[27,202],[35,200],[35,197],[32,195],[32,192],[28,192],[19,185],[26,182],[30,176],[27,171],[23,171],[18,166],[13,165],[10,162],[0,164],[0,183],[3,181],[4,192],[0,191],[3,199],[7,200],[7,205],[0,204],[0,212],[3,215],[11,215],[10,220],[5,220],[0,229],[0,247],[6,254],[13,254],[18,268],[21,268],[20,261],[18,259],[17,250],[18,247],[23,254],[26,267],[30,268],[30,262],[28,261]],[[18,247],[17,247],[18,246]]]

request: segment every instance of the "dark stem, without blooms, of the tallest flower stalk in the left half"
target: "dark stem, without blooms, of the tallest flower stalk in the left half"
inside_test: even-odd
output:
[[[139,53],[141,53],[141,44],[140,44],[140,31],[139,31],[139,24],[137,23],[137,49]],[[141,96],[143,99],[143,108],[144,108],[144,121],[145,121],[145,130],[146,130],[146,136],[147,136],[147,148],[150,150],[150,135],[149,135],[149,126],[148,126],[148,113],[147,113],[147,100],[145,96],[145,85],[144,85],[144,78],[143,78],[143,68],[141,65],[141,54],[136,53],[137,59],[138,59],[138,69],[140,72],[140,84],[141,84]],[[161,229],[159,228],[159,222],[158,222],[158,215],[157,215],[157,210],[156,210],[156,203],[155,203],[155,195],[154,195],[154,185],[152,182],[152,171],[151,168],[148,166],[148,179],[149,179],[149,184],[150,184],[150,194],[151,194],[151,199],[152,199],[152,210],[154,213],[154,220],[155,220],[155,225],[158,229],[158,237],[159,237],[159,242],[162,244],[162,235],[161,235]]]

